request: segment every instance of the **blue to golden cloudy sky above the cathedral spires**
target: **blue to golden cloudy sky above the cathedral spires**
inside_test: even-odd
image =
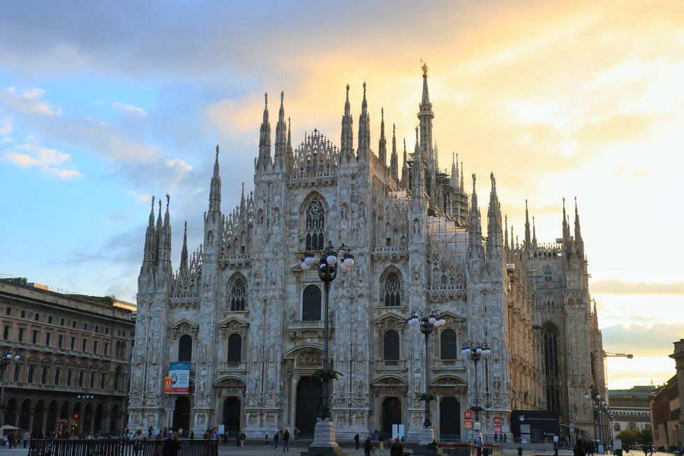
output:
[[[411,144],[421,61],[440,166],[493,171],[540,242],[577,197],[604,349],[634,354],[607,358],[609,386],[667,381],[684,337],[678,1],[4,3],[0,274],[134,301],[151,195],[171,195],[177,265],[217,143],[223,209],[253,188],[265,92],[285,92],[295,144],[337,143],[345,84],[357,117],[365,81],[373,143],[384,108]]]

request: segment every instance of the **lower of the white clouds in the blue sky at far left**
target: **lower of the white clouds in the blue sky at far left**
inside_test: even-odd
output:
[[[19,168],[40,168],[45,174],[54,175],[58,179],[82,177],[82,174],[75,169],[69,154],[29,144],[24,144],[17,149],[25,153],[6,152],[3,154],[4,161]]]

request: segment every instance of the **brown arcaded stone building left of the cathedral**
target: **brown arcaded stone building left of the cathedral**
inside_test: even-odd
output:
[[[135,323],[112,301],[0,281],[0,353],[21,356],[4,373],[3,424],[35,435],[123,429]]]

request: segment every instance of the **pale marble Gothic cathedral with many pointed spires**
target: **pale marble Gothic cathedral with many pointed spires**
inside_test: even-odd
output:
[[[365,84],[356,149],[349,87],[339,148],[317,130],[293,148],[281,94],[275,152],[265,107],[254,192],[243,186],[239,206],[228,212],[216,147],[204,240],[190,253],[184,237],[175,273],[169,197],[165,215],[159,202],[156,222],[153,198],[138,279],[131,427],[172,420],[195,432],[223,423],[253,437],[295,426],[311,435],[322,284],[315,268],[299,265],[304,251],[332,241],[349,244],[356,256],[332,284],[330,300],[329,353],[343,374],[331,395],[339,438],[403,423],[408,439],[417,439],[424,403],[415,397],[425,386],[426,353],[422,334],[406,325],[415,307],[446,313],[429,348],[438,438],[465,434],[475,381],[473,363],[461,359],[468,340],[491,346],[491,358],[478,365],[485,432],[498,423],[510,432],[513,410],[549,410],[560,413],[565,436],[593,435],[584,394],[596,385],[605,395],[603,348],[577,205],[573,230],[563,204],[556,242],[537,242],[527,214],[519,242],[491,175],[482,221],[475,175],[468,193],[462,163],[454,160],[450,173],[438,167],[426,68],[422,83],[415,148],[410,154],[404,147],[403,161],[394,133],[387,145],[384,113],[378,153],[371,151]],[[176,361],[191,362],[190,393],[166,413],[162,378]]]

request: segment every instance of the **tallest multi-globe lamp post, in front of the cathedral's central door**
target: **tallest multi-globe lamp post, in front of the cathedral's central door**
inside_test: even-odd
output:
[[[342,258],[340,258],[340,256]],[[302,270],[308,271],[315,264],[315,258],[312,252],[307,251],[304,253],[304,259],[302,260]],[[334,448],[339,446],[335,441],[335,425],[330,420],[330,406],[328,404],[328,387],[329,387],[329,357],[328,357],[328,344],[329,344],[329,317],[328,317],[328,307],[329,307],[329,295],[330,295],[330,284],[337,277],[337,271],[341,270],[346,272],[351,269],[354,265],[354,256],[351,253],[351,249],[348,245],[342,244],[339,249],[335,249],[332,242],[328,242],[328,247],[325,252],[321,253],[318,260],[318,278],[323,282],[323,290],[325,291],[325,304],[324,304],[324,316],[323,316],[323,375],[322,383],[323,388],[321,391],[320,398],[320,413],[318,414],[318,421],[315,425],[315,431],[313,434],[312,447],[316,447],[315,450],[310,450],[311,454],[320,453],[321,447]]]

